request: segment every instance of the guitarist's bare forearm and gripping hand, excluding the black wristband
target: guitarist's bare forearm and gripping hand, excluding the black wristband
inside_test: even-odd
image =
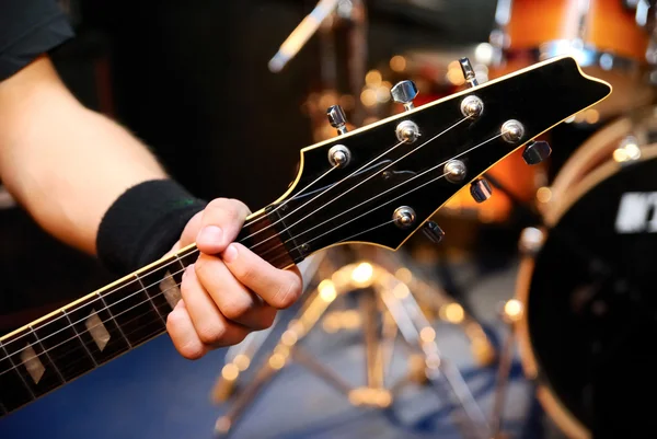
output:
[[[0,175],[45,230],[89,254],[96,253],[102,219],[127,189],[166,177],[141,142],[84,108],[45,56],[0,82]],[[132,211],[122,219],[131,220]],[[268,327],[276,310],[301,294],[298,269],[277,269],[232,243],[247,213],[238,200],[216,199],[182,235],[173,231],[174,239],[181,235],[173,251],[196,242],[201,252],[185,272],[183,300],[168,319],[186,358]]]

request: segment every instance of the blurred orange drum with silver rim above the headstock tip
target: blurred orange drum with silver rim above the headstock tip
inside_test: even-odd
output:
[[[572,122],[593,125],[647,105],[655,96],[655,2],[621,0],[498,0],[491,74],[572,55],[614,93]]]

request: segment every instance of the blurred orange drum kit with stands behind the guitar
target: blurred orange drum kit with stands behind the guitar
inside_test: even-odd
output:
[[[657,391],[653,376],[657,356],[650,346],[657,335],[657,300],[650,293],[657,255],[656,2],[498,0],[489,42],[457,50],[397,54],[369,71],[365,62],[355,61],[358,53],[351,51],[346,73],[343,71],[349,79],[344,92],[338,91],[335,42],[331,38],[341,21],[346,22],[347,26],[343,23],[341,27],[347,28],[344,41],[365,54],[365,4],[320,3],[323,19],[314,30],[304,27],[307,33],[319,30],[323,42],[325,86],[312,93],[303,106],[318,141],[334,135],[325,114],[316,109],[327,107],[326,101],[338,101],[357,115],[350,120],[365,125],[401,111],[387,97],[390,84],[400,77],[413,79],[428,100],[461,90],[464,80],[459,63],[452,60],[462,56],[473,60],[477,79],[485,82],[545,58],[573,55],[585,72],[607,80],[614,91],[601,104],[568,120],[566,128],[572,132],[591,134],[581,145],[570,146],[573,151],[563,164],[517,166],[521,159],[511,154],[488,171],[502,190],[487,203],[474,204],[470,196],[458,194],[437,213],[456,222],[505,223],[519,204],[532,212],[533,224],[520,233],[516,296],[502,308],[510,331],[498,351],[454,298],[417,276],[413,258],[359,249],[345,256],[332,249],[316,263],[312,293],[303,305],[287,323],[274,325],[273,332],[278,326],[278,334],[264,332],[229,350],[214,391],[215,401],[221,403],[234,396],[237,379],[263,349],[262,340],[269,336],[277,340],[253,383],[219,419],[218,431],[231,430],[249,402],[288,358],[304,362],[344,391],[354,405],[388,407],[394,392],[381,381],[385,346],[399,332],[422,354],[419,374],[425,381],[442,389],[442,396],[458,401],[466,415],[461,419],[468,420],[464,437],[504,437],[505,389],[516,346],[525,374],[537,384],[539,401],[567,437],[649,436],[657,419],[650,416],[650,404],[639,403],[639,396],[657,394],[652,393]],[[318,16],[315,13],[315,20]],[[296,35],[301,42],[308,37]],[[287,54],[285,61],[290,58]],[[280,62],[276,65],[277,71],[281,68]],[[563,147],[553,146],[555,150]],[[369,282],[372,294],[364,293],[366,304],[360,312],[331,313],[328,305],[336,298],[362,288],[357,285],[358,276],[365,276],[359,270],[367,272],[367,279],[360,281]],[[458,370],[439,356],[436,334],[426,317],[431,309],[437,310],[438,319],[460,325],[481,365],[497,360],[498,385],[489,418],[482,416]],[[452,311],[446,314],[448,309]],[[378,336],[372,335],[379,327],[372,323],[372,312],[381,317]],[[358,389],[348,389],[298,348],[298,342],[315,324],[331,332],[331,325],[348,326],[349,315],[351,323],[360,322],[356,326],[369,339],[366,349],[372,365],[368,366],[368,384]],[[442,369],[445,366],[448,368]],[[447,385],[439,383],[439,378]]]

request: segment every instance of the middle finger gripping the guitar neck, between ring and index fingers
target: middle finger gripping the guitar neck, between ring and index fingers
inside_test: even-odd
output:
[[[240,284],[219,257],[200,254],[194,266],[197,278],[224,317],[252,330],[272,326],[276,309]]]

